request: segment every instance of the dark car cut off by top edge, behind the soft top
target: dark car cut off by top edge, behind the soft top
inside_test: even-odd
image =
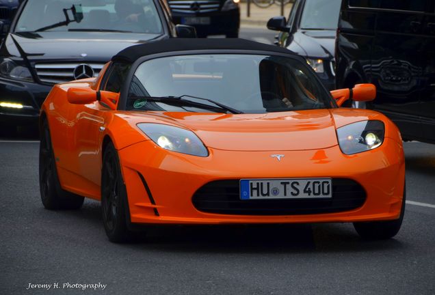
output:
[[[240,0],[168,0],[172,20],[192,25],[198,37],[226,35],[237,38],[240,27]]]

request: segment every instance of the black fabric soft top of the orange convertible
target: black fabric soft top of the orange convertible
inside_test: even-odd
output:
[[[262,44],[244,39],[224,38],[170,38],[157,42],[133,45],[127,47],[111,58],[112,61],[127,61],[133,63],[140,57],[153,55],[155,53],[166,53],[174,51],[195,51],[195,50],[250,50],[269,51],[275,53],[292,53],[286,48]]]

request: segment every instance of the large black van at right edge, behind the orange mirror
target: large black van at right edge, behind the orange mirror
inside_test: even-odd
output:
[[[368,108],[435,143],[435,1],[343,0],[340,15],[337,88],[375,84]]]

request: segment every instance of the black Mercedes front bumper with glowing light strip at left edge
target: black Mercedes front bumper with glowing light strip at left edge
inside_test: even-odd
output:
[[[38,124],[40,106],[51,86],[0,79],[0,102],[22,104],[22,109],[0,106],[0,122],[4,125]]]

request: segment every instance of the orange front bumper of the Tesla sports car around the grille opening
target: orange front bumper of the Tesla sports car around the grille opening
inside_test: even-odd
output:
[[[153,141],[119,151],[132,223],[317,223],[397,219],[404,195],[401,143],[386,138],[372,151],[347,156],[338,146],[323,150],[231,152],[209,149],[201,158],[168,152]],[[271,154],[285,154],[278,162]],[[141,176],[145,180],[141,180]],[[346,178],[365,189],[354,210],[321,214],[245,215],[200,212],[192,202],[199,188],[215,180],[241,178]],[[152,195],[151,197],[147,193]]]

